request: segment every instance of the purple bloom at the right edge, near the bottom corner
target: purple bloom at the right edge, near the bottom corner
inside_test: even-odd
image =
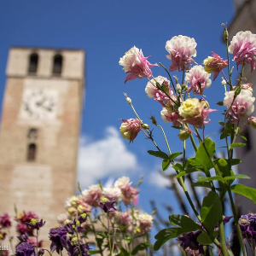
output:
[[[256,239],[256,214],[248,213],[247,215],[241,215],[238,221],[241,229],[241,234],[249,241]]]

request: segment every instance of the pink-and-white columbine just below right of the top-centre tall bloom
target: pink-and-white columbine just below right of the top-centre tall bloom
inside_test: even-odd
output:
[[[211,74],[207,73],[201,65],[192,67],[185,77],[185,81],[190,84],[188,90],[201,95],[203,90],[212,84],[210,76]]]

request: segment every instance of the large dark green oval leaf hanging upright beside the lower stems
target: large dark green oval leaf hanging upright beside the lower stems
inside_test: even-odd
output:
[[[218,224],[218,221],[222,219],[222,216],[222,203],[218,194],[211,191],[205,196],[201,207],[201,221],[210,235],[213,234],[213,231]]]

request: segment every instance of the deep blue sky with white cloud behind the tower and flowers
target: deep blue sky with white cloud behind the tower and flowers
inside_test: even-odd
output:
[[[151,63],[161,61],[168,67],[166,41],[179,34],[195,38],[197,63],[201,64],[211,51],[225,57],[220,24],[229,24],[233,16],[231,0],[3,1],[0,3],[0,99],[3,99],[10,46],[84,49],[86,96],[79,165],[80,171],[85,173],[80,177],[87,177],[87,180],[81,183],[85,186],[97,178],[106,181],[108,177],[122,175],[129,175],[137,182],[144,175],[140,197],[143,209],[150,212],[149,200],[155,199],[180,212],[172,191],[164,188],[165,183],[157,174],[160,161],[147,153],[148,149],[154,149],[153,145],[144,139],[143,133],[130,145],[117,133],[119,119],[134,117],[125,102],[125,91],[144,122],[149,122],[152,113],[164,125],[172,151],[181,148],[177,131],[160,119],[160,105],[146,96],[147,80],[124,84],[125,73],[119,67],[119,58],[136,45],[143,49],[145,56],[151,55]],[[153,73],[166,76],[160,67],[154,67]],[[224,91],[220,87],[220,79],[217,79],[207,90],[210,104],[223,99]],[[207,134],[218,131],[216,123],[220,117],[220,111],[211,114],[212,125],[207,125]],[[157,131],[155,139],[160,148],[166,147]]]

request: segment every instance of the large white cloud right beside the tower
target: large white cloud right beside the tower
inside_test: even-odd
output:
[[[128,150],[116,128],[106,129],[106,136],[92,141],[82,137],[79,147],[79,183],[82,188],[104,177],[120,177],[138,170],[137,157]]]

